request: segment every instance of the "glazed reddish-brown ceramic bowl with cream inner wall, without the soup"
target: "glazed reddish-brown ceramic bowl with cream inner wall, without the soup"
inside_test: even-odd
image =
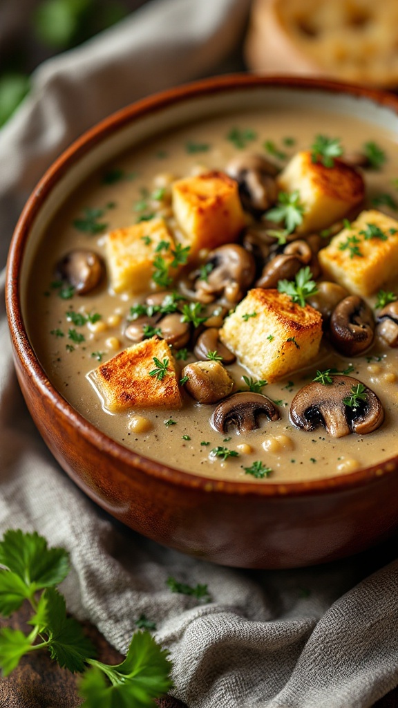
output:
[[[8,258],[6,298],[16,372],[28,409],[59,464],[96,503],[161,544],[209,561],[288,568],[330,561],[385,539],[398,523],[398,456],[344,476],[259,485],[206,479],[135,454],[96,430],[54,389],[25,329],[24,287],[46,222],[91,171],[169,127],[220,111],[307,102],[387,125],[398,98],[305,79],[229,76],[135,103],[87,132],[28,200]]]

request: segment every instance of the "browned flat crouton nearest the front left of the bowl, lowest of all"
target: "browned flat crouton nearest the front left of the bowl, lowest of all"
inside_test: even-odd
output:
[[[152,375],[159,368],[157,358],[166,370],[161,377]],[[87,374],[98,390],[104,407],[111,413],[121,413],[130,408],[167,406],[181,408],[174,359],[163,339],[152,337],[116,354]]]

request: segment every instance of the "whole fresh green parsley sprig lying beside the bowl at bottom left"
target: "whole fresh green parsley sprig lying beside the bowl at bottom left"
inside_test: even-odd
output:
[[[144,708],[171,688],[168,652],[149,632],[133,634],[120,664],[110,666],[93,658],[91,641],[79,622],[67,617],[64,597],[55,587],[69,572],[64,549],[48,548],[45,538],[36,532],[9,530],[0,542],[0,565],[1,615],[8,617],[26,601],[32,610],[29,634],[11,627],[0,630],[0,668],[4,676],[25,654],[48,650],[59,666],[82,674],[78,683],[79,695],[85,699],[82,708]],[[144,622],[143,615],[140,619]]]

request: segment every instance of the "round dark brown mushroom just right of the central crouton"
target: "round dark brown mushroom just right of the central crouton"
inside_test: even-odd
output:
[[[375,334],[375,320],[369,305],[358,295],[349,295],[336,305],[330,318],[330,338],[345,356],[368,349]]]

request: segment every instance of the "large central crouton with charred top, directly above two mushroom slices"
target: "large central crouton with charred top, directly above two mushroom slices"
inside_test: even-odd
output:
[[[300,307],[284,292],[261,287],[248,292],[220,330],[220,340],[241,363],[268,382],[309,364],[321,338],[322,316],[317,310]]]

